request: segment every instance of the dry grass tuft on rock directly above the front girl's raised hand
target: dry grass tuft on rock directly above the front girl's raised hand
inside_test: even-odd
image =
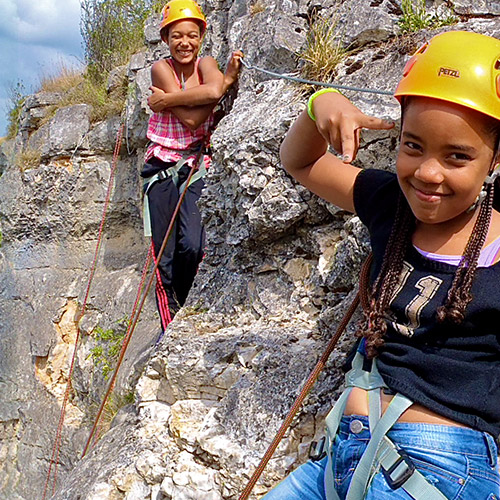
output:
[[[318,17],[311,24],[305,47],[296,53],[303,62],[301,76],[309,80],[329,82],[347,50],[337,33],[337,20]]]

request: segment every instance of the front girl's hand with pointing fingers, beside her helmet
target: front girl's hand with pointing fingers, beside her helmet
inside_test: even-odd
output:
[[[316,97],[313,113],[318,132],[342,155],[344,163],[351,163],[356,158],[362,128],[388,130],[394,127],[393,122],[365,115],[337,92]]]

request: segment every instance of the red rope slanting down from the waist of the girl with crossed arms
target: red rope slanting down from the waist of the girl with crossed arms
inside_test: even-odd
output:
[[[112,375],[112,377],[111,377],[111,379],[109,381],[108,389],[107,389],[107,391],[106,391],[106,393],[104,395],[104,398],[101,401],[101,406],[99,407],[99,411],[97,412],[97,416],[95,418],[94,425],[92,426],[92,430],[90,431],[90,435],[89,435],[89,437],[87,439],[87,443],[85,444],[85,448],[84,448],[83,453],[82,453],[82,458],[86,455],[86,453],[87,453],[87,451],[88,451],[88,449],[89,449],[89,447],[90,447],[90,445],[91,445],[91,443],[92,443],[92,441],[94,439],[94,434],[96,433],[99,420],[100,420],[102,412],[104,410],[104,406],[106,405],[106,401],[108,400],[108,398],[109,398],[109,396],[110,396],[110,394],[111,394],[111,392],[113,390],[113,387],[114,387],[114,384],[115,384],[115,381],[116,381],[116,377],[118,376],[118,370],[120,369],[120,366],[121,366],[121,364],[123,362],[123,358],[125,356],[125,353],[127,351],[128,345],[130,343],[130,339],[132,338],[132,334],[133,334],[133,332],[135,330],[137,322],[139,321],[139,317],[141,315],[142,308],[143,308],[144,303],[146,301],[146,298],[148,296],[149,290],[151,289],[153,281],[154,281],[154,279],[156,277],[156,270],[158,269],[160,257],[163,255],[163,252],[165,251],[165,247],[167,246],[168,239],[169,239],[169,237],[170,237],[170,235],[172,233],[172,229],[174,227],[175,220],[177,218],[177,215],[179,213],[182,201],[184,200],[184,197],[185,197],[186,192],[188,190],[188,187],[190,185],[191,179],[193,178],[193,176],[195,174],[195,170],[196,170],[198,164],[200,163],[200,160],[203,157],[204,148],[205,148],[205,141],[201,141],[201,144],[200,144],[200,146],[198,148],[198,151],[196,153],[196,157],[195,157],[195,159],[193,161],[193,164],[191,165],[191,170],[189,171],[189,174],[188,174],[188,177],[186,179],[186,182],[183,184],[183,185],[185,185],[185,187],[184,187],[184,189],[180,193],[179,201],[177,202],[177,205],[175,206],[174,212],[172,214],[172,218],[170,219],[170,223],[169,223],[167,231],[165,233],[165,237],[163,238],[163,242],[161,244],[161,247],[158,250],[158,254],[156,256],[155,265],[153,267],[153,270],[151,271],[151,274],[150,274],[149,280],[147,282],[147,285],[145,286],[145,290],[144,290],[144,293],[142,294],[141,301],[140,301],[139,305],[137,306],[137,313],[136,313],[135,317],[133,318],[133,320],[131,320],[130,325],[129,325],[128,333],[127,333],[127,335],[125,336],[125,338],[123,340],[122,348],[121,348],[120,354],[118,356],[118,360],[116,362],[116,366],[115,366],[115,369],[113,371],[113,375]]]

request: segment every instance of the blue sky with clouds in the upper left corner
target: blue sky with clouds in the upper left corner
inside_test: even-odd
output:
[[[31,93],[42,75],[82,59],[80,0],[0,0],[0,137],[10,87],[21,81]]]

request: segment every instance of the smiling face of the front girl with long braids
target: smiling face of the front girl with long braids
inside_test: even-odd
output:
[[[494,142],[480,113],[438,99],[410,99],[396,169],[417,220],[468,218],[492,167]]]

